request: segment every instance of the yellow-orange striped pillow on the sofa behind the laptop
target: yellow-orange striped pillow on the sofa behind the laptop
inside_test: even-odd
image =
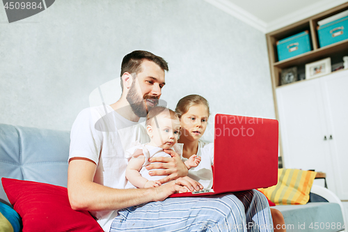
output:
[[[260,189],[260,192],[276,205],[304,205],[309,200],[316,174],[315,171],[278,169],[277,185]]]

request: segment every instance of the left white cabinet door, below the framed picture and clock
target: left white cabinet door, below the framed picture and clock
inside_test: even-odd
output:
[[[276,97],[284,167],[323,171],[335,192],[320,79],[276,88]]]

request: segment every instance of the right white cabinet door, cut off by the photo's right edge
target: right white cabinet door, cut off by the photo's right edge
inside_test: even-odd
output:
[[[334,72],[321,81],[326,95],[324,104],[336,194],[341,200],[348,200],[348,70]]]

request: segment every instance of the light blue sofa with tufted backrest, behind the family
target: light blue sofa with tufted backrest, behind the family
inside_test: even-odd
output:
[[[32,180],[40,183],[67,186],[70,132],[0,124],[0,175],[6,178]],[[321,222],[343,224],[339,200],[329,190],[315,188],[315,193],[336,203],[308,203],[303,206],[276,206],[290,225],[287,231],[320,230]],[[0,201],[10,205],[0,187]],[[319,230],[310,223],[318,222]],[[305,228],[303,228],[305,223]],[[291,225],[294,225],[293,228]],[[336,226],[337,227],[337,226]]]

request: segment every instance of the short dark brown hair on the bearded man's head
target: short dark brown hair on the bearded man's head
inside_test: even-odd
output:
[[[125,57],[123,57],[122,64],[121,64],[121,88],[123,91],[123,80],[122,75],[125,72],[129,72],[130,74],[136,73],[138,74],[141,72],[141,63],[143,63],[143,60],[148,60],[156,63],[161,67],[162,70],[165,70],[168,72],[168,63],[161,58],[160,56],[156,56],[155,54],[152,54],[151,52],[142,51],[142,50],[136,50],[134,52],[131,52]]]

